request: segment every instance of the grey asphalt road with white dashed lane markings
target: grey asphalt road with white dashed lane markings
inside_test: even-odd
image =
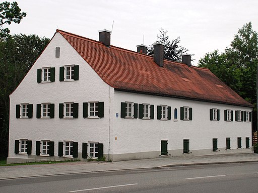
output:
[[[164,167],[0,180],[0,192],[257,193],[258,163]]]

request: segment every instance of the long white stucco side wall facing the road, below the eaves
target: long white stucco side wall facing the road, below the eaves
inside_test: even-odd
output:
[[[115,91],[114,101],[114,109],[119,114],[118,118],[115,118],[113,128],[114,154],[157,152],[156,154],[159,155],[161,140],[168,140],[168,150],[173,155],[183,152],[183,139],[189,139],[190,152],[193,150],[207,150],[208,153],[214,154],[211,151],[213,138],[218,138],[218,149],[226,149],[226,137],[230,137],[231,148],[234,150],[237,149],[237,137],[242,138],[243,148],[245,148],[245,137],[249,137],[251,146],[251,122],[235,121],[235,110],[252,111],[251,108],[121,91]],[[154,105],[154,120],[120,118],[121,102]],[[170,121],[157,120],[158,105],[171,106],[172,116]],[[192,108],[191,121],[180,120],[180,107],[183,106]],[[177,108],[178,114],[177,121],[173,119],[175,108]],[[210,121],[211,108],[220,109],[220,121]],[[234,111],[234,121],[224,121],[225,109]],[[172,150],[178,151],[173,153]],[[247,151],[251,150],[248,149]],[[230,153],[230,151],[227,151],[227,153]]]

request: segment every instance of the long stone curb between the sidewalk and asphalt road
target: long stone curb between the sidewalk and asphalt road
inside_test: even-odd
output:
[[[45,175],[31,175],[31,176],[0,178],[0,181],[1,180],[9,180],[9,179],[24,179],[24,178],[32,178],[32,177],[46,177],[46,176],[86,174],[86,173],[97,173],[97,172],[126,171],[126,170],[137,170],[137,169],[155,169],[155,168],[162,168],[162,167],[183,167],[183,166],[194,166],[194,165],[216,165],[216,164],[254,163],[254,162],[258,162],[258,160],[251,160],[251,161],[227,161],[227,162],[206,162],[206,163],[182,163],[182,164],[162,165],[162,166],[157,166],[157,167],[140,167],[140,168],[127,168],[127,169],[111,169],[111,170],[99,170],[99,171],[84,171],[84,172],[45,174]]]

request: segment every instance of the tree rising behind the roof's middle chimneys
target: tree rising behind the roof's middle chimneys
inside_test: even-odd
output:
[[[187,52],[188,50],[182,46],[179,46],[180,37],[176,39],[169,40],[167,35],[167,31],[164,31],[162,28],[160,29],[160,35],[157,37],[158,40],[156,42],[160,42],[164,44],[164,58],[173,61],[181,61],[182,54]],[[148,55],[153,55],[153,44],[150,45],[147,49]]]

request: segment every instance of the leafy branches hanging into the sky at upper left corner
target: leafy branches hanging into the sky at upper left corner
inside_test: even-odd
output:
[[[3,28],[4,24],[10,25],[12,22],[19,24],[24,17],[26,13],[21,13],[17,2],[0,4],[0,38],[6,38],[10,33],[8,28]]]

